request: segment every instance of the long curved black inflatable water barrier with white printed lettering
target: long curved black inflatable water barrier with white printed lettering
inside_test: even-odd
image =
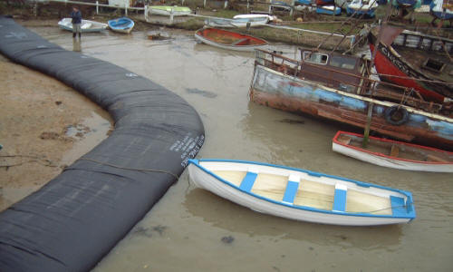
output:
[[[0,214],[0,271],[89,270],[178,179],[203,144],[203,124],[177,94],[4,16],[0,53],[72,86],[115,121],[108,139]]]

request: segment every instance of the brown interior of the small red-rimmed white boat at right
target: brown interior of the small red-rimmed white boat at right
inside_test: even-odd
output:
[[[376,141],[370,139],[366,148],[363,148],[362,146],[363,138],[358,136],[341,134],[338,137],[338,141],[366,151],[377,152],[399,159],[453,163],[453,155],[448,154],[447,152],[418,149],[409,145],[390,141]]]

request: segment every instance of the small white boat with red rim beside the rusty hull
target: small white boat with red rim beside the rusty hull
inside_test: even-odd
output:
[[[357,160],[400,170],[453,172],[453,152],[442,151],[403,141],[369,137],[362,146],[363,135],[338,131],[333,137],[333,151]]]

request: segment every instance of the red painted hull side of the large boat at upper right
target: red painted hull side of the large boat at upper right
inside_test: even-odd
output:
[[[370,44],[370,49],[371,49],[371,52],[374,51],[373,44]],[[405,77],[408,76],[406,73],[401,72],[400,69],[397,66],[395,66],[395,64],[391,63],[390,60],[379,50],[377,51],[376,56],[374,57],[374,66],[376,67],[376,71],[378,73],[405,76]],[[429,101],[434,101],[434,102],[443,102],[444,101],[443,95],[439,94],[438,92],[434,92],[434,91],[425,89],[423,86],[421,86],[419,83],[417,83],[414,80],[396,78],[396,77],[392,77],[392,78],[387,77],[385,80],[390,83],[395,83],[400,86],[414,88],[415,90],[419,91],[419,93],[423,97],[428,99]]]

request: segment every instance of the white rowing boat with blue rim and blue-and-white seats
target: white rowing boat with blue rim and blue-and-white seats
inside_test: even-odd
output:
[[[356,180],[243,160],[189,160],[200,188],[258,212],[313,223],[373,226],[415,219],[412,195]]]

